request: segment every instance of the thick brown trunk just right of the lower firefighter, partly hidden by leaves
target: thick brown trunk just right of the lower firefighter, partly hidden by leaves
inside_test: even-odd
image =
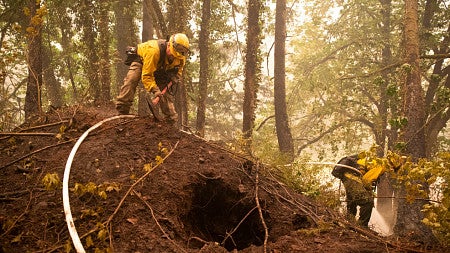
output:
[[[407,65],[403,66],[406,73],[402,86],[402,113],[408,121],[403,129],[402,140],[406,143],[406,153],[418,159],[425,157],[426,153],[424,135],[425,103],[419,69],[417,0],[405,0],[404,26],[405,63]],[[420,210],[425,202],[415,200],[414,203],[410,204],[406,201],[405,196],[405,186],[401,185],[396,193],[398,212],[394,233],[403,237],[414,236],[431,241],[433,239],[431,230],[421,222],[423,214]]]

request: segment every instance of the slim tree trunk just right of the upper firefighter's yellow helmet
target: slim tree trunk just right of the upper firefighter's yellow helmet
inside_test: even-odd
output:
[[[197,133],[205,137],[206,97],[208,96],[209,77],[209,22],[211,18],[211,0],[204,0],[200,30],[200,80],[197,102]]]

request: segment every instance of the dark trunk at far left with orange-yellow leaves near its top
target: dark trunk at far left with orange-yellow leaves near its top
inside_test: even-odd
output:
[[[27,91],[25,95],[25,118],[28,119],[33,115],[41,113],[41,84],[42,84],[42,22],[36,22],[39,16],[37,10],[40,8],[39,2],[34,0],[28,1],[30,8],[29,27],[27,29],[27,43],[28,43],[28,80]],[[42,18],[42,17],[40,17]],[[32,22],[32,19],[34,21]]]

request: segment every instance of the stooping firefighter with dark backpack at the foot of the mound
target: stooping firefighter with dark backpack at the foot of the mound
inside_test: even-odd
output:
[[[372,208],[374,207],[372,186],[384,173],[383,166],[367,169],[358,163],[358,155],[342,158],[333,168],[331,174],[339,178],[344,185],[347,199],[347,213],[356,216],[359,206],[359,223],[368,226]]]

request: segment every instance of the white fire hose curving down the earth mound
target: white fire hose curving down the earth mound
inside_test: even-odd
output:
[[[67,228],[69,229],[70,237],[72,238],[73,245],[77,253],[85,253],[86,251],[83,248],[83,244],[81,243],[80,237],[78,236],[77,229],[75,228],[75,223],[73,222],[72,212],[70,211],[70,202],[69,202],[69,176],[70,176],[70,167],[72,166],[73,158],[80,147],[83,140],[88,136],[89,132],[101,126],[103,123],[115,119],[122,118],[135,118],[135,115],[119,115],[111,118],[104,119],[91,128],[89,128],[86,132],[81,135],[78,141],[73,146],[72,151],[70,152],[69,158],[67,159],[66,168],[64,170],[64,178],[63,178],[63,204],[64,204],[64,214],[66,215]]]

